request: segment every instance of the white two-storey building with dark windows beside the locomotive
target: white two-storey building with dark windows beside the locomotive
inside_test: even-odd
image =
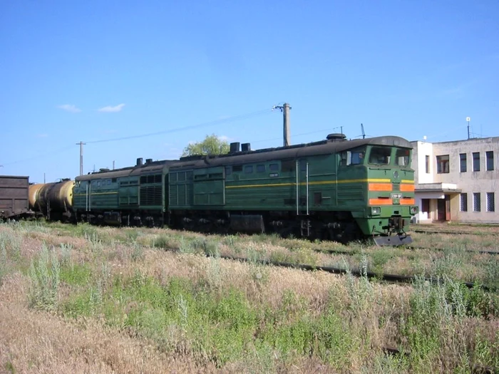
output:
[[[411,144],[416,222],[499,223],[499,137]]]

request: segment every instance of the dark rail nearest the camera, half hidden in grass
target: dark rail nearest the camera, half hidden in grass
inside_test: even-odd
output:
[[[240,261],[240,262],[256,262],[257,264],[263,264],[263,265],[272,265],[272,266],[279,266],[279,267],[285,267],[285,268],[291,268],[291,269],[300,269],[300,270],[305,270],[305,271],[325,271],[326,273],[331,273],[331,274],[351,274],[356,277],[361,277],[361,276],[366,276],[368,279],[380,279],[389,283],[396,283],[396,284],[410,284],[413,281],[416,281],[419,279],[417,276],[405,276],[405,275],[396,275],[396,274],[378,274],[374,273],[372,271],[360,271],[360,270],[347,270],[347,269],[342,269],[342,268],[335,268],[332,266],[314,266],[314,265],[306,265],[306,264],[291,264],[288,262],[277,262],[277,261],[269,261],[269,260],[254,260],[254,259],[247,259],[246,257],[233,257],[233,256],[218,256],[215,254],[206,254],[208,257],[217,257],[220,259],[226,259],[226,260],[232,260],[232,261]],[[426,281],[431,284],[443,284],[443,281],[441,279],[433,279],[433,278],[424,278],[423,281]],[[468,289],[473,289],[477,284],[474,282],[463,282],[463,285],[468,287]],[[478,285],[480,289],[483,289],[483,291],[493,291],[490,289],[488,286],[485,285]]]

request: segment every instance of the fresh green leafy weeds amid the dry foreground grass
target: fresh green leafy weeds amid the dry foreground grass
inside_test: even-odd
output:
[[[352,357],[358,358],[359,352],[367,353],[379,344],[376,329],[384,328],[393,318],[384,315],[379,326],[371,325],[372,306],[382,299],[367,279],[347,278],[346,291],[346,304],[339,305],[338,293],[331,290],[331,298],[316,313],[292,289],[275,308],[254,304],[242,290],[230,285],[206,288],[205,284],[176,277],[161,284],[137,271],[130,278],[115,276],[99,292],[83,291],[68,299],[61,311],[74,318],[104,315],[112,327],[153,339],[163,350],[182,350],[199,363],[211,362],[219,368],[248,354],[268,358],[272,352],[274,359],[262,361],[261,369],[274,369],[281,360],[297,362],[314,357],[332,370],[343,371],[352,367]],[[411,352],[410,359],[386,361],[386,365],[426,373],[438,365],[450,369],[472,362],[499,364],[493,341],[480,338],[476,331],[472,341],[466,336],[470,318],[487,313],[476,303],[484,299],[479,290],[469,291],[452,281],[443,286],[416,282],[408,308],[396,318],[398,341],[403,350]],[[364,326],[363,321],[370,322]],[[480,352],[475,353],[476,345]],[[460,354],[452,354],[456,351]]]

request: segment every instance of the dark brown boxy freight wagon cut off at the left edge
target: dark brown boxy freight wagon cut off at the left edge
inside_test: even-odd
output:
[[[29,217],[29,177],[0,175],[0,219]]]

